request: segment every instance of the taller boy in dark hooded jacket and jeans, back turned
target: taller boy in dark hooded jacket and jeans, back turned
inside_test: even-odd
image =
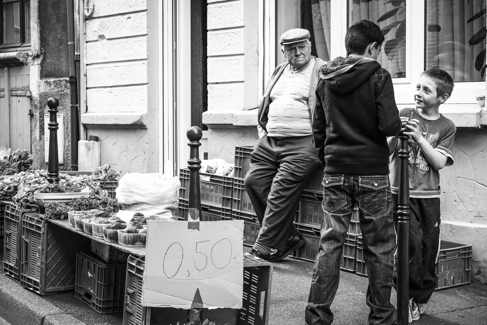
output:
[[[353,206],[360,210],[369,276],[369,324],[394,324],[390,302],[395,232],[389,182],[388,136],[401,130],[391,75],[376,61],[384,36],[369,20],[350,26],[347,57],[320,67],[312,130],[324,166],[323,219],[306,306],[307,325],[333,322],[340,259]]]

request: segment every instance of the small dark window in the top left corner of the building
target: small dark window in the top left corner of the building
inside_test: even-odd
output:
[[[30,1],[1,1],[1,47],[17,47],[30,43]]]

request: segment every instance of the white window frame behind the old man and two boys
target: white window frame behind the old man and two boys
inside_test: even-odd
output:
[[[345,34],[348,27],[349,1],[331,0],[330,17],[330,54],[331,57],[346,56]],[[412,6],[414,5],[414,15]],[[279,36],[277,30],[277,1],[259,1],[259,98],[276,66],[278,55],[276,42]],[[426,64],[426,0],[406,0],[406,77],[393,78],[394,94],[398,105],[413,105],[413,91],[416,81],[425,70]],[[412,36],[418,41],[412,48]],[[417,38],[416,38],[417,36]],[[415,55],[419,53],[420,55]],[[456,106],[458,104],[475,104],[476,95],[486,92],[487,81],[455,82],[452,96],[442,105]]]

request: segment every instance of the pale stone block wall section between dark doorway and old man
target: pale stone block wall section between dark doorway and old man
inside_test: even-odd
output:
[[[257,142],[257,119],[234,124],[233,113],[258,105],[258,0],[208,0],[208,158],[233,162],[235,146]]]

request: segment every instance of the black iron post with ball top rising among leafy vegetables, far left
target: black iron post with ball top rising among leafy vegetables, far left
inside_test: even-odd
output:
[[[47,168],[47,181],[49,183],[59,182],[59,157],[57,156],[57,130],[59,129],[57,123],[57,107],[59,100],[51,97],[47,100],[49,106],[49,165]],[[45,150],[45,148],[44,148]]]

